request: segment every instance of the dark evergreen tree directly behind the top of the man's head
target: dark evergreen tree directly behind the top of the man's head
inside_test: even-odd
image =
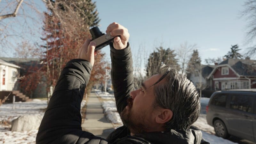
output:
[[[162,46],[156,48],[156,51],[152,52],[148,58],[147,77],[151,77],[157,73],[157,69],[161,64],[166,64],[180,70],[178,60],[175,58],[176,54],[174,50],[167,48],[163,49]]]

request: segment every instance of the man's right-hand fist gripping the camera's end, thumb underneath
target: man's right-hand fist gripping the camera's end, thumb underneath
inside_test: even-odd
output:
[[[117,36],[114,38],[114,43],[113,43],[115,49],[121,50],[126,48],[128,39],[130,37],[130,34],[128,33],[127,28],[124,28],[124,26],[116,22],[113,22],[108,26],[106,30],[106,33],[109,33],[109,32],[111,36]]]

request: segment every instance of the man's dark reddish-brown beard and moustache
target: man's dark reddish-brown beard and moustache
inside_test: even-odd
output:
[[[143,133],[148,130],[149,121],[147,117],[147,113],[141,114],[133,114],[132,113],[132,105],[133,99],[127,99],[127,106],[128,108],[124,108],[121,112],[120,117],[125,126],[130,130],[130,132],[136,133]]]

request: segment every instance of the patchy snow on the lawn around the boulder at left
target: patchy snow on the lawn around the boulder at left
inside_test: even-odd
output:
[[[84,107],[86,101],[83,100],[81,108]],[[44,115],[44,110],[47,107],[47,100],[34,99],[29,102],[15,102],[15,109],[12,109],[13,104],[3,104],[0,107],[0,143],[4,144],[34,144],[36,143],[36,134],[38,130],[25,132],[10,131],[10,122],[13,119],[23,115],[41,114]]]

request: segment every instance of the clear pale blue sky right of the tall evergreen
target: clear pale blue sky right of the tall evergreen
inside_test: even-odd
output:
[[[202,62],[223,57],[235,44],[246,52],[247,23],[239,17],[243,4],[242,0],[96,0],[100,30],[105,32],[114,21],[128,28],[133,55],[139,48],[176,49],[187,41],[197,44]],[[102,50],[109,55],[109,48]]]

